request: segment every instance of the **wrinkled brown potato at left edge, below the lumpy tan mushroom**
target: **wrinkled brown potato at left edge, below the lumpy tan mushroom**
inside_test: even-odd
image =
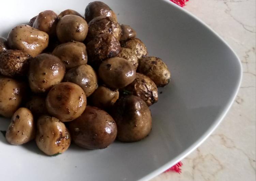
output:
[[[26,76],[31,56],[20,50],[6,50],[0,54],[0,73],[8,77]]]

